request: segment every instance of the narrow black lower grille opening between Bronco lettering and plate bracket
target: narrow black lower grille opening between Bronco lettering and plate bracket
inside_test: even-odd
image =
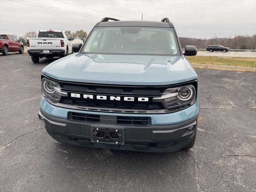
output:
[[[92,124],[114,124],[114,125],[139,125],[149,126],[151,125],[150,117],[133,117],[133,116],[108,116],[108,115],[96,115],[85,114],[77,112],[69,112],[68,120],[77,122],[88,122]]]

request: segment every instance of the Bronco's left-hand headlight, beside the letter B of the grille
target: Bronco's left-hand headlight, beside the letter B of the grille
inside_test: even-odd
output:
[[[42,94],[44,98],[54,102],[59,102],[61,96],[68,96],[67,92],[61,91],[60,85],[57,82],[42,79]]]

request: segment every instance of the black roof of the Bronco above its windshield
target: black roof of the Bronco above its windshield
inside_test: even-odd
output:
[[[154,21],[108,21],[108,22],[98,22],[95,27],[120,27],[120,26],[174,28],[172,23],[169,23],[169,22],[154,22]]]

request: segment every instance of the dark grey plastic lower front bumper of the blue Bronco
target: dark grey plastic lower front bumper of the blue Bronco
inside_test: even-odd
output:
[[[74,122],[66,118],[46,114],[42,109],[39,111],[38,117],[50,136],[62,143],[116,150],[174,152],[191,142],[196,132],[198,115],[177,124],[150,126],[118,126]],[[91,126],[122,128],[124,130],[124,144],[91,142]],[[188,130],[188,127],[191,126],[194,126],[194,130]]]

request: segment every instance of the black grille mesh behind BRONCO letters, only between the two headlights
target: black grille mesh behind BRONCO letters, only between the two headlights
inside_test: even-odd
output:
[[[84,108],[104,108],[116,110],[161,110],[164,109],[161,102],[153,102],[153,97],[162,95],[166,86],[114,86],[101,84],[71,84],[60,83],[62,90],[68,92],[68,97],[62,97],[60,103],[76,105]],[[79,98],[71,96],[79,94]],[[84,98],[84,95],[93,95],[93,99]],[[96,96],[104,96],[105,100],[96,99]],[[120,100],[110,100],[110,97],[119,97]],[[134,98],[125,101],[124,98]],[[139,101],[139,98],[148,98],[148,101]]]

